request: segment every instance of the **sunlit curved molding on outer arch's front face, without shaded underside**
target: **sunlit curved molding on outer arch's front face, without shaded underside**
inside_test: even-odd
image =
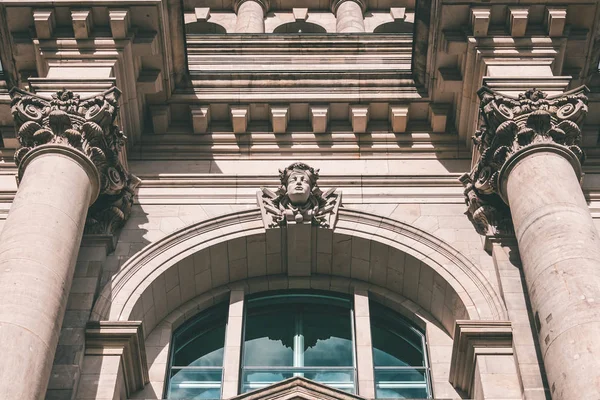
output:
[[[104,287],[92,311],[92,319],[140,319],[148,307],[146,304],[142,305],[142,297],[145,293],[152,292],[153,283],[164,279],[165,271],[176,268],[180,261],[203,249],[253,235],[266,235],[266,240],[270,240],[269,235],[280,237],[277,229],[265,231],[260,211],[253,209],[191,225],[148,245],[133,256]],[[333,235],[348,235],[379,242],[420,260],[441,276],[447,287],[452,288],[452,293],[446,292],[444,307],[462,309],[460,313],[464,315],[461,318],[506,319],[506,310],[500,297],[477,267],[459,251],[425,231],[389,218],[340,209]],[[276,274],[281,273],[285,273],[285,270]],[[272,272],[265,274],[273,275]],[[310,279],[322,277],[324,275],[313,275]],[[224,281],[220,285],[229,283]],[[397,292],[402,294],[401,288]],[[167,305],[160,305],[163,309],[155,312],[154,321],[148,321],[146,332],[150,332],[156,323],[187,300],[189,298],[180,298],[179,303],[169,304],[168,308]],[[448,312],[452,313],[454,310]],[[434,317],[442,322],[441,315]],[[455,317],[456,315],[447,316],[452,320],[444,321],[450,331]]]

